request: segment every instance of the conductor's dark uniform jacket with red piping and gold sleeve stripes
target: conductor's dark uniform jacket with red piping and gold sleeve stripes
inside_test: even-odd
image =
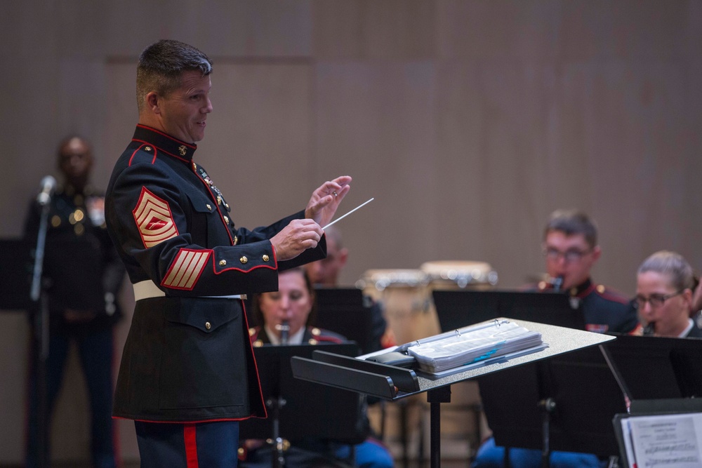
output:
[[[157,292],[136,302],[114,417],[265,417],[243,303],[211,296],[276,290],[278,270],[326,255],[323,237],[293,260],[276,260],[268,239],[304,211],[268,227],[234,227],[229,203],[192,160],[196,148],[137,126],[107,187],[107,228],[131,283],[152,281]]]

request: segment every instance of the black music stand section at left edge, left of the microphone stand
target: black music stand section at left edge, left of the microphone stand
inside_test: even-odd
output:
[[[0,310],[25,311],[32,305],[30,249],[24,239],[0,239]]]

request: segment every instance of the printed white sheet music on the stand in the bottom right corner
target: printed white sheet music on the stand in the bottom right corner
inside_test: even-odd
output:
[[[702,466],[702,413],[631,416],[621,420],[629,466]]]

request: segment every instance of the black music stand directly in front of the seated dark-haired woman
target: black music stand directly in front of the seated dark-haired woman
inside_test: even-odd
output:
[[[356,444],[366,439],[364,403],[359,395],[305,382],[293,377],[291,357],[310,358],[324,349],[341,356],[355,356],[355,343],[329,345],[264,345],[254,347],[263,399],[269,417],[239,423],[240,439],[271,439],[273,466],[279,466],[282,439],[323,439]],[[284,456],[284,455],[283,455]]]

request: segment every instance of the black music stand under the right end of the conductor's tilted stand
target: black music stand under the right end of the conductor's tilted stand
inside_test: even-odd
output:
[[[611,420],[626,410],[625,400],[600,349],[484,375],[478,385],[498,446],[541,450],[545,465],[553,450],[619,452]]]

